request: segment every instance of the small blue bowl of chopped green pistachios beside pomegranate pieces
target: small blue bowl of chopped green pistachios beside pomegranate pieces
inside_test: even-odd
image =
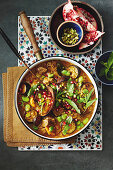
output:
[[[77,22],[65,21],[57,29],[58,41],[66,47],[74,47],[83,39],[83,29]]]

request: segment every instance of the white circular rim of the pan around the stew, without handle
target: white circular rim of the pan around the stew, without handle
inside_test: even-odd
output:
[[[69,58],[65,58],[65,57],[48,57],[48,58],[44,58],[44,59],[41,59],[40,61],[34,63],[33,65],[30,66],[30,69],[35,67],[36,65],[44,62],[44,61],[49,61],[49,60],[62,60],[62,61],[67,61],[67,62],[70,62],[74,65],[77,65],[79,68],[81,68],[89,77],[89,79],[91,80],[92,84],[94,85],[94,88],[95,88],[95,94],[96,94],[96,98],[97,100],[95,101],[95,108],[93,110],[93,113],[92,113],[92,116],[91,116],[91,119],[90,121],[80,130],[78,131],[77,133],[74,133],[68,137],[64,137],[64,138],[49,138],[49,137],[46,137],[46,136],[43,136],[43,135],[40,135],[38,133],[36,133],[34,130],[32,130],[24,121],[24,119],[22,118],[20,112],[19,112],[19,109],[18,109],[18,104],[17,104],[17,95],[18,95],[18,89],[19,89],[19,86],[20,86],[20,83],[22,81],[22,79],[24,78],[24,76],[27,74],[27,72],[29,72],[29,70],[25,70],[22,75],[20,76],[18,82],[17,82],[17,85],[16,85],[16,89],[15,89],[15,108],[16,108],[16,112],[17,112],[17,115],[18,117],[20,118],[21,122],[23,123],[23,125],[29,130],[31,131],[33,134],[39,136],[39,137],[42,137],[42,138],[45,138],[45,139],[49,139],[49,140],[64,140],[64,139],[69,139],[73,136],[76,136],[77,134],[79,134],[81,131],[83,131],[92,121],[92,119],[94,118],[94,115],[96,113],[96,110],[97,110],[97,105],[98,105],[98,90],[97,90],[97,85],[95,83],[95,80],[93,79],[92,75],[88,72],[88,70],[86,70],[85,67],[83,67],[81,64],[79,64],[78,62],[72,60],[72,59],[69,59]]]

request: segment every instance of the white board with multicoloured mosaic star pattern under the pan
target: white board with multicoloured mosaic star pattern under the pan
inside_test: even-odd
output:
[[[96,114],[90,125],[80,134],[74,144],[61,145],[41,145],[34,147],[19,147],[23,150],[102,150],[102,84],[95,77],[95,63],[102,53],[102,42],[90,53],[84,55],[66,54],[59,50],[51,41],[48,34],[49,16],[30,16],[30,21],[36,36],[36,40],[42,53],[45,57],[65,56],[76,60],[82,64],[94,77],[98,92],[99,103]],[[18,51],[22,58],[30,66],[37,61],[33,53],[33,47],[21,25],[20,18],[18,18]],[[18,60],[18,66],[22,66],[22,62]]]

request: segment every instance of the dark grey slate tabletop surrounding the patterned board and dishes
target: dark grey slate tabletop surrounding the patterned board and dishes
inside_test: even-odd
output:
[[[0,27],[17,47],[17,15],[51,15],[65,0],[0,0]],[[113,1],[86,0],[102,15],[105,32],[103,52],[113,49]],[[17,59],[0,37],[0,73],[16,66]],[[0,74],[0,170],[112,170],[113,169],[113,87],[103,86],[103,151],[19,152],[3,141],[3,92]]]

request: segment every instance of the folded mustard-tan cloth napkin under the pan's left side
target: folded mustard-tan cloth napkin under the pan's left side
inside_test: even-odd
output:
[[[33,146],[74,143],[75,137],[53,141],[40,138],[31,133],[20,121],[14,104],[15,88],[24,67],[9,67],[7,73],[3,73],[3,95],[4,95],[4,141],[8,146]]]

